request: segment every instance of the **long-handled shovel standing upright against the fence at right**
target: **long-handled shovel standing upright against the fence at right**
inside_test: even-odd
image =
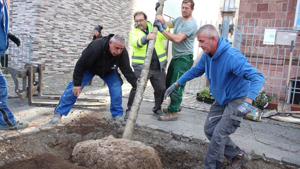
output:
[[[283,103],[278,102],[278,105],[277,105],[277,110],[280,111],[280,112],[291,111],[291,104],[286,103],[286,95],[287,95],[287,91],[288,91],[288,88],[289,88],[289,75],[291,73],[293,48],[294,48],[294,41],[292,41],[291,53],[289,54],[289,68],[288,68],[288,72],[287,72],[284,100],[283,100]]]

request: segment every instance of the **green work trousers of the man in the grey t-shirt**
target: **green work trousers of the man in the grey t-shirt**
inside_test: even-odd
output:
[[[175,83],[188,69],[193,66],[193,54],[184,55],[177,59],[172,59],[168,67],[166,88]],[[178,106],[182,102],[182,94],[186,83],[183,83],[170,95],[171,103],[168,106],[168,112],[178,112]]]

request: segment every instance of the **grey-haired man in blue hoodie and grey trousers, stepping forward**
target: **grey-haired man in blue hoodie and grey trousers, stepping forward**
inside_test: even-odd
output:
[[[228,39],[219,37],[219,31],[211,24],[204,25],[196,32],[199,47],[203,54],[195,67],[167,89],[165,98],[174,89],[186,81],[200,77],[205,73],[209,89],[216,100],[210,108],[204,124],[204,133],[208,140],[208,152],[205,157],[205,169],[221,168],[223,156],[232,159],[227,169],[238,169],[250,161],[251,156],[241,150],[229,137],[249,112],[264,83],[264,76],[247,62],[241,52],[233,48]],[[234,113],[232,115],[226,115]],[[209,118],[226,115],[218,118]]]

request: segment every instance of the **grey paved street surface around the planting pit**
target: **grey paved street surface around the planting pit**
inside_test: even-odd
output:
[[[61,94],[71,81],[72,75],[61,74],[44,76],[45,86],[43,94]],[[126,109],[128,94],[131,86],[124,80],[122,86],[123,92],[123,108]],[[19,100],[14,93],[14,83],[12,78],[7,75],[8,106],[15,113],[16,118],[20,121],[30,121],[30,126],[27,129],[22,129],[22,133],[30,133],[35,128],[45,126],[52,127],[51,117],[54,107],[49,106],[29,106],[28,99]],[[67,123],[78,118],[80,114],[97,113],[101,117],[110,118],[110,96],[107,86],[103,85],[103,81],[99,77],[95,77],[91,86],[86,86],[80,97],[101,98],[105,99],[107,105],[102,107],[91,108],[73,108],[68,116],[63,116],[62,123]],[[205,140],[203,125],[210,105],[196,100],[196,94],[184,93],[182,102],[182,112],[179,112],[177,121],[158,121],[153,115],[152,108],[154,106],[153,88],[151,83],[144,92],[144,99],[140,107],[137,124],[146,124],[149,128],[157,129],[164,128],[172,132],[181,132],[182,134],[193,139]],[[58,100],[43,100],[34,97],[35,101],[56,101]],[[85,102],[86,103],[86,102]],[[169,99],[165,100],[163,108],[167,107]],[[8,131],[1,131],[2,133]],[[244,119],[241,127],[230,136],[237,145],[246,152],[252,152],[256,155],[264,155],[265,158],[298,164],[300,166],[300,128],[299,125],[283,124],[280,122],[270,122],[268,119],[262,121],[250,121]],[[285,137],[285,138],[283,138]],[[205,142],[208,142],[205,140]],[[268,145],[267,145],[268,144]]]

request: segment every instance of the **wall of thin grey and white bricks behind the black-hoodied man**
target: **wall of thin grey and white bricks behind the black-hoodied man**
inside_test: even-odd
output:
[[[155,12],[156,2],[149,3],[153,8],[139,10]],[[98,24],[104,26],[104,36],[125,35],[131,56],[129,32],[140,4],[137,0],[10,1],[10,27],[16,34],[32,36],[31,63],[44,63],[45,74],[70,73]]]

